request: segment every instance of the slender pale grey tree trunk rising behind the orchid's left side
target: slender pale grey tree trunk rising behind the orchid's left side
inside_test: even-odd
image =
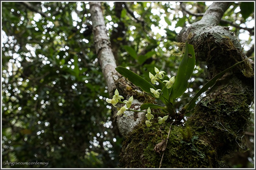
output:
[[[107,29],[104,22],[104,17],[101,10],[100,2],[90,2],[90,12],[92,16],[92,32],[94,34],[94,44],[96,54],[100,60],[100,66],[108,87],[109,97],[112,98],[116,88],[119,91],[120,95],[123,95],[126,100],[130,98],[129,91],[126,88],[131,88],[132,84],[125,80],[117,71],[116,71],[116,60],[111,49],[111,44],[107,35]],[[133,89],[136,89],[135,87]],[[139,92],[140,93],[140,92]],[[138,100],[134,100],[133,105],[140,107],[142,104]],[[117,106],[122,107],[118,104]],[[121,135],[126,136],[131,132],[134,127],[140,124],[145,115],[143,112],[134,113],[132,111],[125,111],[125,116],[116,116],[117,109],[112,106],[113,111],[113,121],[117,125],[118,130]]]

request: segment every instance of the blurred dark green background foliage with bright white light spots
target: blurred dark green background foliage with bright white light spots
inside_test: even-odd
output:
[[[183,4],[192,13],[208,8],[204,2]],[[180,5],[103,2],[117,65],[148,81],[155,66],[176,76],[182,52],[173,41],[181,27],[201,18],[187,14]],[[254,46],[251,6],[231,3],[223,16],[237,25],[230,29],[245,51]],[[123,138],[113,130],[111,107],[105,102],[109,96],[94,53],[90,16],[89,4],[82,2],[2,2],[4,168],[45,167],[4,165],[6,161],[48,162],[48,168],[118,167]],[[220,25],[229,26],[228,22]],[[182,96],[185,100],[177,99],[177,109],[202,87],[204,68],[196,62]],[[253,160],[253,154],[248,159]],[[247,165],[251,167],[253,161]]]

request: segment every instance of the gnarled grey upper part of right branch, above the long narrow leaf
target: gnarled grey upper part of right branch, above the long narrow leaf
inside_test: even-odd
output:
[[[188,41],[194,46],[197,60],[207,61],[209,80],[237,61],[247,58],[236,36],[229,31],[229,27],[218,26],[228,4],[228,2],[214,2],[200,21],[183,28],[177,36],[178,42]],[[224,66],[217,63],[219,61],[222,61]],[[238,70],[246,69],[246,72],[243,71],[244,75],[253,77],[252,63],[252,60],[248,60],[239,65]]]

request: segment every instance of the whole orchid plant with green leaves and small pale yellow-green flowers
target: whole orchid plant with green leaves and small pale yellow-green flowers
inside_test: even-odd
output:
[[[124,113],[125,111],[147,113],[145,115],[147,118],[147,120],[145,121],[145,124],[148,127],[152,125],[151,120],[154,118],[153,114],[157,114],[157,113],[151,114],[151,109],[161,109],[166,114],[164,117],[158,117],[159,124],[165,124],[165,121],[167,121],[169,116],[172,121],[174,120],[181,121],[183,119],[183,116],[189,112],[187,110],[191,109],[192,105],[195,104],[196,99],[203,92],[205,92],[207,89],[212,87],[215,84],[216,80],[219,79],[222,75],[224,75],[228,70],[232,69],[233,67],[235,67],[236,65],[238,65],[243,61],[237,62],[233,66],[229,67],[228,69],[214,76],[196,93],[196,95],[189,101],[189,103],[187,103],[182,108],[182,110],[180,110],[177,113],[173,103],[175,102],[175,99],[182,96],[182,94],[186,91],[188,86],[188,79],[191,77],[193,73],[195,62],[196,62],[194,48],[192,45],[186,42],[185,52],[180,62],[180,66],[179,66],[176,77],[174,75],[168,77],[167,75],[165,75],[164,71],[159,71],[159,69],[155,67],[155,73],[156,73],[155,75],[149,72],[149,78],[151,83],[153,84],[152,85],[146,79],[140,77],[140,75],[136,73],[133,73],[131,70],[121,66],[116,67],[116,71],[118,73],[123,75],[125,78],[131,81],[134,85],[139,86],[143,91],[151,94],[157,100],[162,101],[164,105],[158,105],[154,103],[144,103],[140,106],[140,110],[131,110],[130,107],[132,106],[133,96],[131,96],[128,101],[124,100],[122,102],[121,99],[124,99],[124,97],[119,95],[117,89],[115,91],[115,95],[113,96],[113,98],[107,99],[107,102],[113,104],[113,106],[115,107],[116,107],[116,103],[125,104],[123,107],[121,107],[118,110],[117,115],[124,114],[124,116],[126,116]],[[160,87],[162,87],[161,89],[156,89],[156,87],[154,86],[158,83],[160,84]],[[157,87],[159,87],[159,85]],[[146,109],[147,111],[143,111]]]

